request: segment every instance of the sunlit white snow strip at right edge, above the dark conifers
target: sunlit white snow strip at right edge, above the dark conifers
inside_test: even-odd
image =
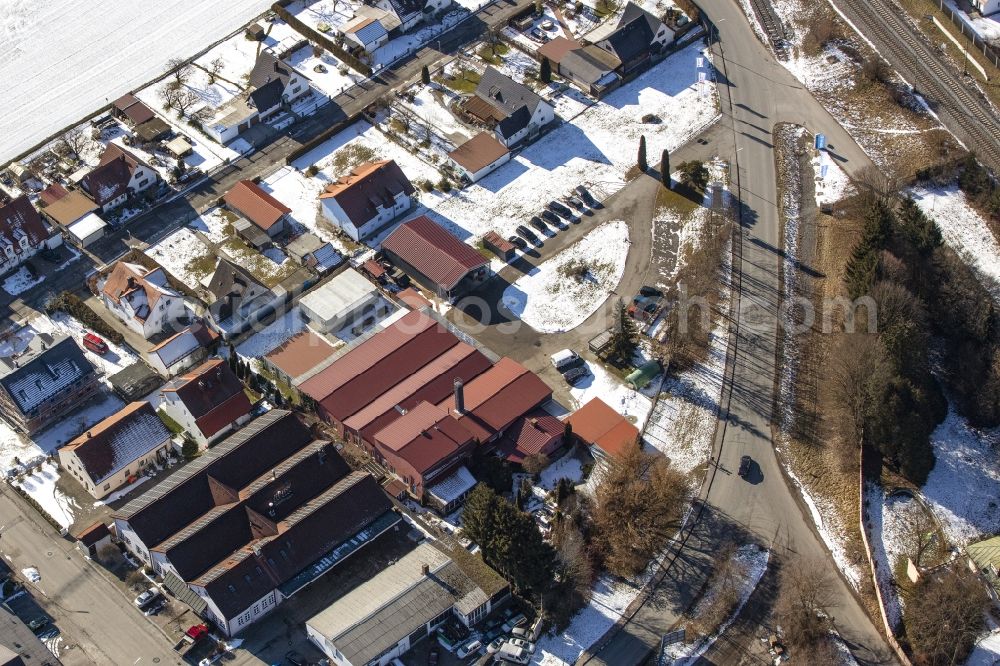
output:
[[[979,211],[956,185],[910,191],[924,214],[937,222],[948,245],[972,266],[980,282],[1000,303],[1000,243]]]

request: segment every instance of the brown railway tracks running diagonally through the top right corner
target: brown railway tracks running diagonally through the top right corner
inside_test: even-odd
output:
[[[941,62],[935,50],[915,33],[913,26],[885,0],[836,0],[861,19],[869,39],[894,54],[912,70],[911,82],[939,114],[943,112],[959,130],[966,147],[994,173],[1000,173],[1000,120],[971,92],[961,76]]]

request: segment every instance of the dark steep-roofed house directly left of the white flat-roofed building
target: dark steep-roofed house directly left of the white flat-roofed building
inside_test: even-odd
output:
[[[219,259],[208,291],[214,297],[208,306],[208,321],[226,339],[266,319],[281,300],[246,269],[226,259]]]

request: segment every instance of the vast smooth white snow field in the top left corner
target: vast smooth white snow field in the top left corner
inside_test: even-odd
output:
[[[0,3],[0,81],[7,84],[0,164],[269,6],[267,0]]]

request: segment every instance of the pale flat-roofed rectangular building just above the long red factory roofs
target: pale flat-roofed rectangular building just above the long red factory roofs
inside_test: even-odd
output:
[[[299,299],[299,308],[317,331],[354,336],[393,309],[378,288],[350,266]]]

